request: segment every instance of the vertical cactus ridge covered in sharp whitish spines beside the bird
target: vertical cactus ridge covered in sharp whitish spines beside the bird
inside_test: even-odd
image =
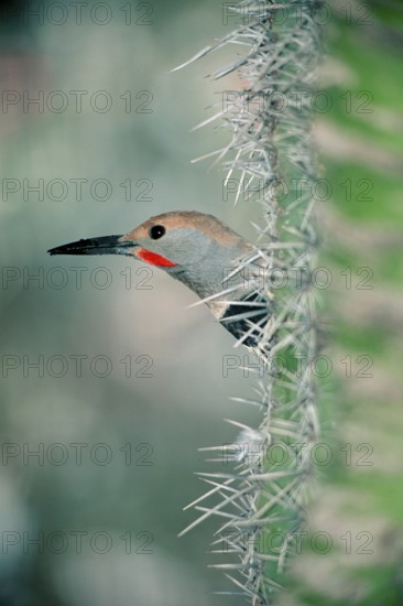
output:
[[[215,543],[229,560],[218,566],[236,584],[232,593],[247,596],[250,604],[268,605],[299,540],[314,475],[311,454],[318,439],[312,371],[317,356],[312,281],[317,237],[311,141],[320,50],[318,2],[250,0],[231,10],[239,26],[190,62],[227,44],[242,51],[213,77],[236,72],[243,90],[226,91],[225,106],[204,123],[219,120],[228,129],[229,143],[208,155],[224,162],[227,180],[238,183],[238,196],[258,201],[264,210],[257,253],[240,268],[250,267],[253,277],[259,267],[255,291],[268,309],[262,322],[260,306],[254,328],[253,316],[247,318],[258,335],[253,349],[265,374],[246,403],[258,405],[263,418],[258,429],[235,423],[240,428],[236,443],[206,448],[230,459],[231,468],[203,474],[209,490],[189,506],[200,512],[189,528],[217,516],[222,524]]]

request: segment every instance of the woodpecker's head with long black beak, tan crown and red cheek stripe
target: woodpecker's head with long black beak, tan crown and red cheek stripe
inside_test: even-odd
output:
[[[225,290],[225,279],[252,245],[213,215],[173,212],[151,217],[122,236],[78,240],[51,255],[126,255],[161,268],[199,296]]]

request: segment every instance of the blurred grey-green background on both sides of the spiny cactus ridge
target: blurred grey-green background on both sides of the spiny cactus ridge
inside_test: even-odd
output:
[[[315,132],[331,190],[318,205],[331,461],[309,530],[331,549],[304,544],[282,599],[400,605],[403,12],[328,7],[331,104]],[[194,472],[214,469],[197,448],[233,437],[224,418],[258,418],[228,399],[254,378],[222,372],[246,354],[163,272],[46,255],[173,209],[254,237],[260,208],[233,207],[220,169],[189,163],[226,140],[189,130],[239,87],[205,78],[228,51],[170,73],[233,23],[213,0],[1,10],[0,604],[243,604],[211,594],[228,588],[207,567],[216,526],[177,533],[204,489]]]

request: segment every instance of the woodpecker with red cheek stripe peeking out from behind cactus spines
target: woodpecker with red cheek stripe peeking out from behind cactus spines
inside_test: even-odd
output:
[[[126,255],[161,268],[193,290],[247,346],[258,344],[270,315],[270,300],[258,288],[262,267],[255,247],[213,215],[164,213],[129,234],[81,239],[48,252]]]

